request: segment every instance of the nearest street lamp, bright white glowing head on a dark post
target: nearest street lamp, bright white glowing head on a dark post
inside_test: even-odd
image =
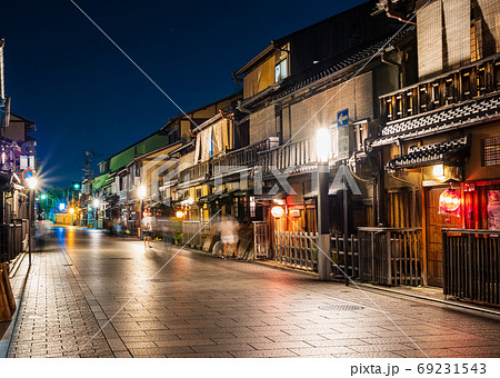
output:
[[[316,149],[318,153],[318,273],[321,281],[328,281],[331,273],[330,205],[328,199],[330,146],[330,130],[327,128],[318,129],[316,133]]]

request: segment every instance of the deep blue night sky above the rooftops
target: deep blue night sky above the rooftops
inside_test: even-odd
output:
[[[231,72],[271,39],[363,1],[74,2],[188,111],[231,94]],[[0,38],[48,185],[80,180],[87,149],[97,162],[180,113],[70,0],[2,0]]]

